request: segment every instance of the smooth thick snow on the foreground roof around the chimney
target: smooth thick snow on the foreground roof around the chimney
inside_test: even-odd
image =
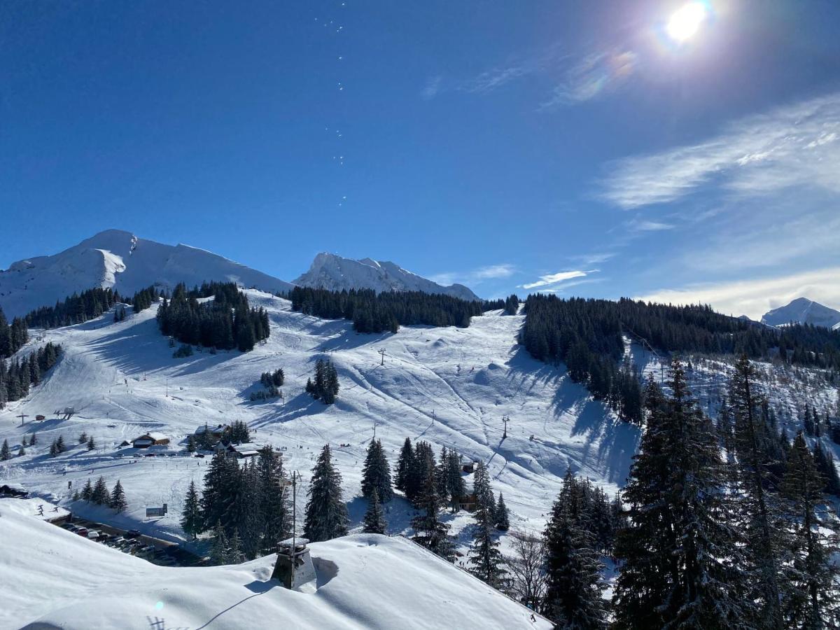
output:
[[[270,580],[274,555],[220,567],[155,566],[24,516],[15,501],[0,499],[3,628],[551,627],[398,538],[312,544],[313,592],[288,591]]]

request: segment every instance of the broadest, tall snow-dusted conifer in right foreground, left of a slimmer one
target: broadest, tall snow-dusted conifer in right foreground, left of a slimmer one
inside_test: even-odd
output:
[[[648,383],[648,422],[623,492],[629,525],[613,604],[617,629],[750,627],[738,533],[711,422],[690,397],[680,360],[671,395]]]

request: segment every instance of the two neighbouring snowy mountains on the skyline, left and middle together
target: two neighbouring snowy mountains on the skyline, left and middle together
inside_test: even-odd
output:
[[[8,270],[0,270],[0,307],[13,318],[93,287],[111,287],[131,296],[151,285],[171,290],[179,282],[194,286],[213,280],[234,281],[270,293],[289,291],[298,284],[335,291],[423,291],[479,299],[466,286],[442,286],[392,262],[318,254],[309,270],[292,284],[205,249],[160,244],[109,229],[59,254],[18,260]]]

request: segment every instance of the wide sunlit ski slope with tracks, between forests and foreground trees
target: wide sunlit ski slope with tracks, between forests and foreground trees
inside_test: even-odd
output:
[[[611,492],[627,476],[638,429],[614,420],[564,370],[533,360],[518,346],[522,316],[488,312],[473,318],[470,328],[366,335],[354,333],[349,322],[291,312],[289,302],[270,294],[248,295],[252,304],[268,309],[271,336],[247,354],[203,352],[173,359],[156,326],[155,307],[121,323],[106,314],[48,330],[44,341],[31,342],[24,352],[53,341],[64,353],[28,399],[0,412],[0,439],[8,438],[13,453],[24,435],[38,433],[37,447],[0,464],[0,480],[66,498],[68,481],[80,488],[88,477],[103,475],[109,486],[120,479],[128,512],[116,516],[79,503],[74,511],[176,540],[182,536],[178,521],[186,486],[190,480],[201,485],[208,460],[136,459],[128,456],[133,449],[115,449],[123,440],[159,431],[171,438],[171,450],[179,450],[186,434],[204,423],[244,420],[255,442],[286,447],[286,470],[299,470],[304,480],[318,450],[330,443],[354,526],[365,510],[358,497],[360,472],[374,426],[392,465],[406,437],[483,459],[494,491],[504,493],[514,528],[543,528],[569,466]],[[380,349],[386,351],[384,365]],[[330,407],[304,392],[315,360],[326,355],[341,385]],[[260,373],[279,367],[286,373],[285,402],[249,402],[251,391],[261,388]],[[54,412],[64,407],[76,407],[76,415],[55,419]],[[21,413],[29,416],[23,427]],[[32,422],[36,414],[49,419]],[[503,416],[510,417],[506,439]],[[95,438],[97,449],[76,443],[81,432]],[[59,435],[71,448],[51,458],[50,442]],[[304,502],[298,501],[299,510]],[[163,503],[167,516],[144,521],[145,507]],[[412,511],[405,501],[389,509],[389,533],[407,532]],[[473,522],[465,512],[447,518],[456,534]],[[463,532],[462,543],[468,538]]]

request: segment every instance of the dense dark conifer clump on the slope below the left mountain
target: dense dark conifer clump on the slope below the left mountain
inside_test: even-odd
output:
[[[198,302],[213,295],[213,301]],[[183,344],[249,352],[270,335],[268,313],[249,307],[234,282],[211,282],[187,291],[179,284],[157,312],[160,331]]]

